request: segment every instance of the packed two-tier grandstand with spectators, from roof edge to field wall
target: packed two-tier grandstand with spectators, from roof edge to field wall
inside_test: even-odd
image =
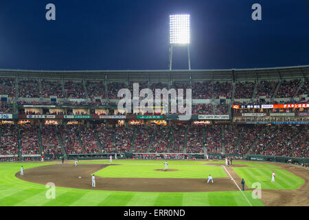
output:
[[[0,160],[119,153],[308,160],[309,66],[182,71],[0,70]],[[119,89],[192,89],[192,117],[118,111]],[[184,96],[187,93],[185,92]],[[255,157],[256,158],[256,157]]]

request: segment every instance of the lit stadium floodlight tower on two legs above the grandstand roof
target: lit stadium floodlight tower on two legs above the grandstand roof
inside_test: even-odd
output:
[[[190,14],[170,15],[170,70],[174,46],[187,46],[187,63],[190,70]]]

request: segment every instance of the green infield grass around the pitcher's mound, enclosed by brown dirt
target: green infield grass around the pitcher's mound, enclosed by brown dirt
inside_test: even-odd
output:
[[[124,164],[108,166],[99,170],[95,175],[100,177],[131,177],[131,178],[196,178],[205,179],[209,174],[212,177],[227,177],[227,173],[221,166],[190,166],[169,165],[169,169],[176,171],[163,172],[155,169],[163,169],[164,165]]]

